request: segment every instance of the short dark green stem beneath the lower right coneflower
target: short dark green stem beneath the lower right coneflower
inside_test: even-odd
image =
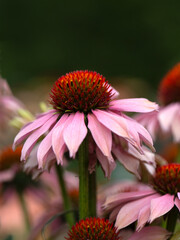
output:
[[[171,211],[168,213],[166,229],[171,233],[174,232],[178,214],[179,214],[179,211],[177,207],[173,207]]]

